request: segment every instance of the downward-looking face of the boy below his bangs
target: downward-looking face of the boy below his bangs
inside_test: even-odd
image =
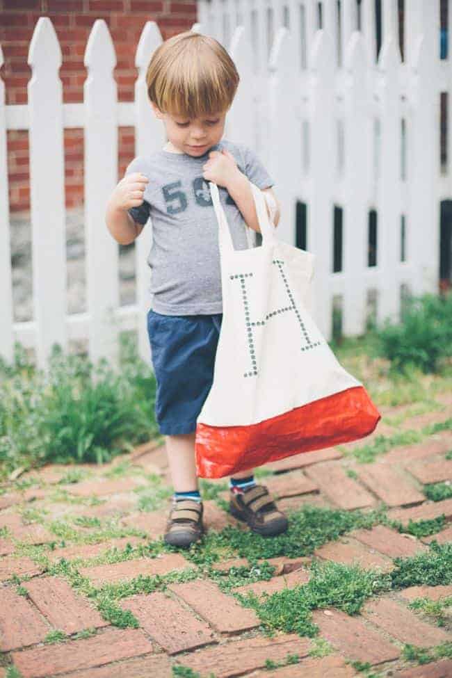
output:
[[[151,106],[156,117],[165,124],[168,141],[194,158],[206,153],[223,136],[227,111],[204,118],[184,118],[175,113],[162,113],[152,102]]]

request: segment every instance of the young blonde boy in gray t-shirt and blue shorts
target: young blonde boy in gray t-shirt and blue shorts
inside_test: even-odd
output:
[[[234,247],[245,249],[246,226],[259,232],[250,181],[272,195],[274,181],[250,148],[223,139],[239,74],[219,42],[191,31],[175,35],[154,52],[146,82],[168,143],[131,161],[108,201],[106,225],[115,240],[128,244],[152,219],[147,330],[156,421],[166,435],[175,490],[164,539],[189,547],[204,531],[195,429],[213,380],[223,310],[218,224],[207,182],[218,185]],[[269,202],[277,225],[279,203]],[[286,531],[286,516],[252,470],[230,478],[229,490],[230,506],[253,531]]]

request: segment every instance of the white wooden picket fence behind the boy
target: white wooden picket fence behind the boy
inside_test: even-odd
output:
[[[439,92],[451,89],[450,61],[439,59],[439,0],[405,0],[403,63],[395,0],[382,0],[383,43],[376,63],[373,5],[362,0],[357,31],[355,0],[341,1],[340,22],[334,0],[202,0],[200,24],[193,27],[223,42],[234,58],[241,83],[225,136],[253,147],[275,177],[282,203],[278,230],[286,241],[296,241],[297,201],[307,205],[307,249],[316,255],[314,317],[328,339],[338,299],[344,334],[356,335],[364,332],[369,298],[376,297],[381,321],[398,317],[401,290],[436,291],[439,202],[450,193],[449,172],[439,162]],[[451,12],[449,22],[450,17]],[[115,363],[118,332],[134,330],[140,355],[149,360],[146,257],[152,226],[136,241],[136,303],[120,307],[118,245],[104,211],[120,178],[118,126],[135,127],[136,154],[158,150],[165,141],[145,88],[147,63],[161,39],[156,24],[147,22],[136,50],[135,102],[118,102],[115,50],[102,19],[86,47],[83,103],[62,103],[61,52],[47,17],[38,20],[29,49],[29,103],[5,106],[0,81],[0,354],[7,359],[15,340],[34,347],[38,364],[45,366],[54,342],[65,348],[70,339],[88,338],[93,361],[106,356]],[[339,63],[337,54],[343,55]],[[450,106],[448,115],[451,129]],[[85,133],[88,311],[68,315],[63,129],[71,127]],[[34,317],[21,323],[13,322],[7,129],[27,129],[30,141]],[[341,208],[343,231],[342,266],[335,273],[334,207]],[[376,265],[369,266],[372,210],[377,255]]]

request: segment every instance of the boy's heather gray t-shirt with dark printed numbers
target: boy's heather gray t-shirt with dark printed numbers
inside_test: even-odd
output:
[[[129,214],[140,224],[152,220],[147,263],[152,270],[152,308],[157,313],[184,316],[223,312],[218,223],[209,184],[202,176],[209,153],[223,147],[258,188],[274,186],[255,152],[224,138],[197,158],[165,150],[137,156],[125,172],[143,172],[149,179],[143,203],[131,207]],[[234,248],[244,250],[248,248],[248,227],[241,211],[226,188],[218,186],[218,192]]]

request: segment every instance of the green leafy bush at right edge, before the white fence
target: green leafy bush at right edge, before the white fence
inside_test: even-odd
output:
[[[401,323],[387,320],[376,328],[380,351],[396,369],[414,365],[436,372],[451,357],[452,294],[425,294],[410,298],[401,311]]]

